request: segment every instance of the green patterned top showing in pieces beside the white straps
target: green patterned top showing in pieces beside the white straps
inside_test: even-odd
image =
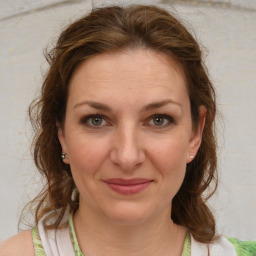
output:
[[[68,222],[69,222],[70,238],[72,241],[75,255],[84,256],[77,241],[72,215],[69,216]],[[32,229],[32,236],[33,236],[33,243],[34,243],[34,249],[35,249],[35,256],[47,256],[44,252],[42,242],[38,233],[38,229],[36,227]],[[234,246],[237,256],[256,256],[256,241],[240,241],[239,239],[236,239],[236,238],[227,238],[227,239]],[[191,255],[190,235],[187,234],[185,238],[184,246],[183,246],[182,256],[190,256],[190,255]]]

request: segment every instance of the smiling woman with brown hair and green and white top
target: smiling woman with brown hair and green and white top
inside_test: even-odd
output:
[[[256,255],[216,234],[205,202],[217,186],[215,93],[180,22],[154,6],[95,9],[48,61],[30,106],[47,185],[36,226],[1,255]]]

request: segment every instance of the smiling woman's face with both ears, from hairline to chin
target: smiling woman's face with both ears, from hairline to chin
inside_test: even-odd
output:
[[[100,54],[72,76],[59,139],[80,208],[120,223],[170,216],[201,142],[181,67],[151,50]]]

